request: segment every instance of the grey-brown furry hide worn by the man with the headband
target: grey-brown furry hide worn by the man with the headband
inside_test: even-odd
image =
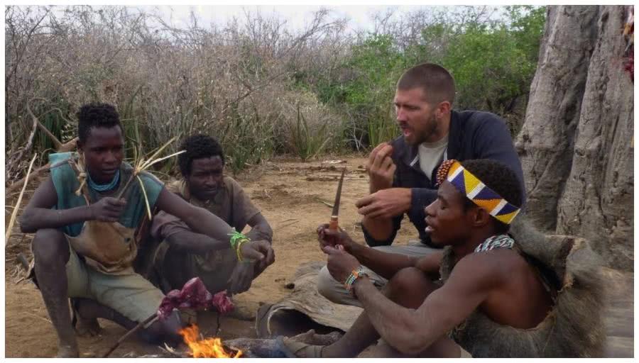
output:
[[[515,219],[510,235],[520,250],[540,262],[556,281],[557,301],[547,318],[532,329],[499,325],[475,311],[452,332],[473,357],[601,357],[603,278],[600,259],[583,238],[545,236],[523,216]],[[452,271],[452,254],[444,250],[442,278]]]

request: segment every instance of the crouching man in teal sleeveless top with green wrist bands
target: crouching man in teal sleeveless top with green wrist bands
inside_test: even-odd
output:
[[[133,270],[145,216],[158,208],[197,233],[234,242],[245,258],[266,258],[270,245],[231,240],[224,220],[168,191],[153,175],[124,163],[124,133],[109,104],[87,104],[78,118],[78,152],[52,154],[50,177],[35,190],[21,216],[31,244],[36,283],[58,333],[58,357],[78,357],[76,328],[95,332],[97,318],[131,329],[158,310],[164,295]],[[142,330],[148,340],[180,341],[182,323],[173,313]]]

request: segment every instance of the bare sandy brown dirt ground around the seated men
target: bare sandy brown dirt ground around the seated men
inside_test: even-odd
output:
[[[236,337],[255,337],[253,321],[261,303],[275,303],[288,294],[285,285],[293,276],[295,269],[310,261],[323,261],[324,255],[317,247],[315,229],[320,223],[327,223],[337,180],[342,167],[346,167],[339,223],[355,240],[363,242],[360,217],[355,201],[366,196],[368,178],[364,171],[363,157],[342,157],[342,163],[324,161],[296,162],[293,160],[275,160],[239,175],[240,182],[253,203],[261,209],[273,228],[273,249],[275,263],[253,281],[251,289],[244,294],[234,296],[236,311],[222,317],[219,324],[219,336],[223,340]],[[24,203],[23,203],[24,204]],[[415,229],[409,223],[398,234],[398,241],[414,238]],[[16,230],[17,232],[17,230]],[[5,268],[5,354],[6,357],[53,357],[56,352],[57,338],[51,325],[40,293],[31,282],[19,281],[23,272],[16,264],[17,252],[28,252],[31,236],[23,237],[16,233],[6,248]],[[614,279],[623,282],[616,294],[623,298],[615,305],[615,320],[608,330],[615,346],[608,356],[632,357],[633,355],[633,275],[611,272]],[[612,277],[612,275],[611,275]],[[629,289],[629,290],[628,290]],[[630,294],[628,294],[630,291]],[[102,334],[97,337],[80,337],[81,357],[96,357],[125,333],[124,328],[106,320],[100,320]],[[205,336],[215,334],[217,315],[203,313],[198,315],[200,330]],[[620,329],[628,325],[627,328]],[[136,338],[124,342],[111,357],[141,357],[162,354],[154,345]]]

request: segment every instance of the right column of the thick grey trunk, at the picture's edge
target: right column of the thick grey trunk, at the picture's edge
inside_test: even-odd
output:
[[[621,35],[628,8],[600,6],[557,232],[587,238],[611,267],[632,270],[634,94]]]

